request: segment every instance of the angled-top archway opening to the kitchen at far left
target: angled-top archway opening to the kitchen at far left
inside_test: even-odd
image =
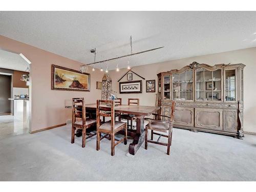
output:
[[[22,53],[0,49],[0,139],[30,131],[30,65]]]

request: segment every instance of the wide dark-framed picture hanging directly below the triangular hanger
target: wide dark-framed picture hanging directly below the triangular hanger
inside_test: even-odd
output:
[[[142,80],[119,82],[119,93],[142,93]]]

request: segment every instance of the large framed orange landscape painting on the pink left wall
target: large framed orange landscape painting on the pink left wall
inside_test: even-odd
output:
[[[90,74],[52,65],[52,90],[90,91]]]

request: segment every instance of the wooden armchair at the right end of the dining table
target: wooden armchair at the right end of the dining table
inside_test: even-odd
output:
[[[145,118],[145,120],[148,120],[148,124],[145,127],[145,149],[146,150],[147,150],[147,142],[149,142],[149,143],[155,143],[155,144],[167,146],[167,155],[170,154],[170,145],[172,145],[172,137],[173,137],[175,101],[172,101],[172,106],[170,106],[170,108],[171,108],[170,117],[154,113],[153,115],[155,115],[155,119]],[[168,118],[169,120],[168,121],[160,120],[162,117]],[[151,130],[151,140],[147,140],[148,130]],[[154,131],[168,133],[168,135],[155,133]],[[153,135],[159,135],[159,138],[157,139],[157,141],[153,140]],[[159,142],[161,136],[167,137],[168,142],[167,143]]]

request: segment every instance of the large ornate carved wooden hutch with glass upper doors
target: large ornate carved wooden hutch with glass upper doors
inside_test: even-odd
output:
[[[157,74],[161,113],[169,116],[170,101],[176,100],[175,127],[242,139],[244,67],[193,62]]]

